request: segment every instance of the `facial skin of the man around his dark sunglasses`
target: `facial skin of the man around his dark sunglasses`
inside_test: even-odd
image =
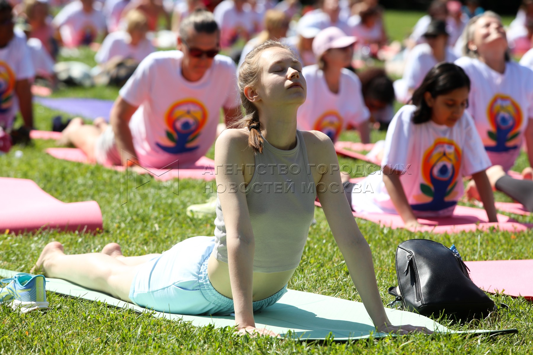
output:
[[[215,32],[207,34],[206,32],[196,32],[189,30],[186,42],[183,43],[182,38],[177,39],[177,49],[183,52],[183,60],[181,62],[181,73],[188,81],[200,80],[205,72],[213,65],[214,58],[209,58],[205,53],[201,57],[193,57],[189,55],[189,48],[198,48],[203,51],[218,50],[220,48],[220,34]]]

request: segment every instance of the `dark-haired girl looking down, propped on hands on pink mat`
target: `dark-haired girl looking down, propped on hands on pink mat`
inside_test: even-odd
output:
[[[474,121],[465,111],[470,79],[461,67],[439,63],[392,119],[385,138],[382,171],[358,184],[346,183],[356,212],[399,214],[406,227],[417,217],[447,217],[463,195],[463,176],[480,186],[489,222],[497,222],[485,170],[490,160]]]

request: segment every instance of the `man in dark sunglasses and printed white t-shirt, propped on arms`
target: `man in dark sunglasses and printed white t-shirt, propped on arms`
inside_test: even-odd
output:
[[[81,148],[100,164],[184,168],[211,148],[220,110],[225,120],[240,116],[236,67],[219,55],[213,14],[196,10],[181,22],[181,51],[148,55],[120,89],[110,114],[83,125],[70,121],[60,143]]]

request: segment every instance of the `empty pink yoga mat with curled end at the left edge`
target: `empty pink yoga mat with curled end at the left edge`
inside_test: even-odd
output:
[[[95,201],[64,203],[28,179],[0,178],[0,233],[39,228],[102,230],[102,212]]]

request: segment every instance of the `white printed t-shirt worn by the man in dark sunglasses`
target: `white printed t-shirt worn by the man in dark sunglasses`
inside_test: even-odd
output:
[[[130,121],[135,152],[144,166],[183,168],[211,148],[222,108],[239,105],[235,64],[223,55],[196,82],[181,74],[183,53],[155,52],[146,57],[120,89],[139,106]]]

